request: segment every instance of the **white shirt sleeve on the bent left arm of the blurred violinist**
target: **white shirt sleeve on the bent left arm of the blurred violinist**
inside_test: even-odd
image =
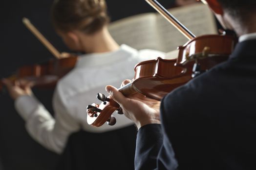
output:
[[[15,101],[28,133],[45,148],[62,153],[68,136],[78,131],[80,126],[67,113],[58,94],[55,94],[54,106],[55,119],[35,97],[21,96]]]

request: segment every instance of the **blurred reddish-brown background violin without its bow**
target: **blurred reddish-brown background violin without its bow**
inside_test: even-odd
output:
[[[23,66],[8,79],[13,82],[17,80],[32,82],[34,86],[41,88],[55,87],[58,80],[74,68],[77,59],[77,56],[72,56],[62,59],[51,59],[42,64]],[[2,85],[0,84],[1,89]]]

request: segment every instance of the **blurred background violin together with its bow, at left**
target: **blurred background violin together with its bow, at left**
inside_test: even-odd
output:
[[[50,59],[42,64],[23,66],[7,79],[12,82],[19,80],[27,81],[41,88],[55,87],[58,80],[75,67],[78,57],[74,54],[60,53],[43,34],[38,31],[28,18],[22,18],[22,22],[55,56],[55,59]],[[0,82],[0,91],[2,87],[3,85]]]

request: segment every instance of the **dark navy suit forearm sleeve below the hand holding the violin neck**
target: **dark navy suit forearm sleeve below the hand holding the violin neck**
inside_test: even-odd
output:
[[[141,127],[137,135],[135,170],[176,170],[177,167],[171,143],[161,125]]]

